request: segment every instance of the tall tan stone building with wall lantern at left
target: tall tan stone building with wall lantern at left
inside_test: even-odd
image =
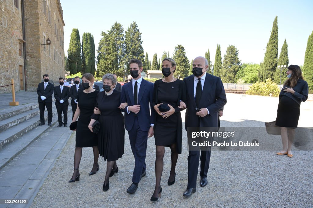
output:
[[[0,86],[35,91],[44,74],[64,76],[64,20],[60,0],[0,0]],[[47,44],[47,39],[50,45]],[[11,86],[0,87],[0,93]]]

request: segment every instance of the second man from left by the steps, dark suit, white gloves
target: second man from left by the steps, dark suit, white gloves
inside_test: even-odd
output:
[[[55,107],[58,112],[58,127],[64,125],[67,127],[67,109],[69,107],[69,88],[64,86],[64,79],[59,78],[59,86],[54,87],[54,98],[55,98]],[[63,122],[62,123],[62,112],[63,112]]]

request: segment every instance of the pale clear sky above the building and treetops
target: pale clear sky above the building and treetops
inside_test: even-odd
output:
[[[284,39],[288,44],[289,64],[303,65],[306,44],[313,30],[313,1],[96,1],[61,0],[64,12],[64,50],[70,34],[78,28],[94,36],[96,50],[101,31],[110,30],[117,21],[128,28],[136,21],[142,33],[143,48],[152,61],[154,53],[172,56],[182,44],[188,59],[204,56],[210,49],[214,62],[216,46],[222,59],[228,45],[239,50],[242,63],[264,59],[275,16],[278,16],[278,55]]]

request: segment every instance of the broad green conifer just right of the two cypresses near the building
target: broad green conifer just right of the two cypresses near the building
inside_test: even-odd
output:
[[[107,33],[102,32],[97,56],[97,77],[106,73],[124,77],[124,29],[120,23],[115,22]]]

